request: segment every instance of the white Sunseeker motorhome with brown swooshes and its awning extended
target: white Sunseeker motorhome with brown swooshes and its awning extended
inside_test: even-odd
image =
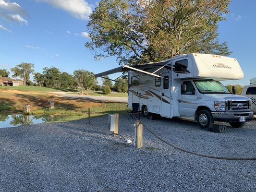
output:
[[[128,72],[128,107],[139,103],[144,116],[182,117],[211,128],[214,121],[243,127],[253,119],[251,100],[233,95],[218,80],[244,78],[236,59],[209,54],[182,54],[143,65],[122,66],[96,77]]]

